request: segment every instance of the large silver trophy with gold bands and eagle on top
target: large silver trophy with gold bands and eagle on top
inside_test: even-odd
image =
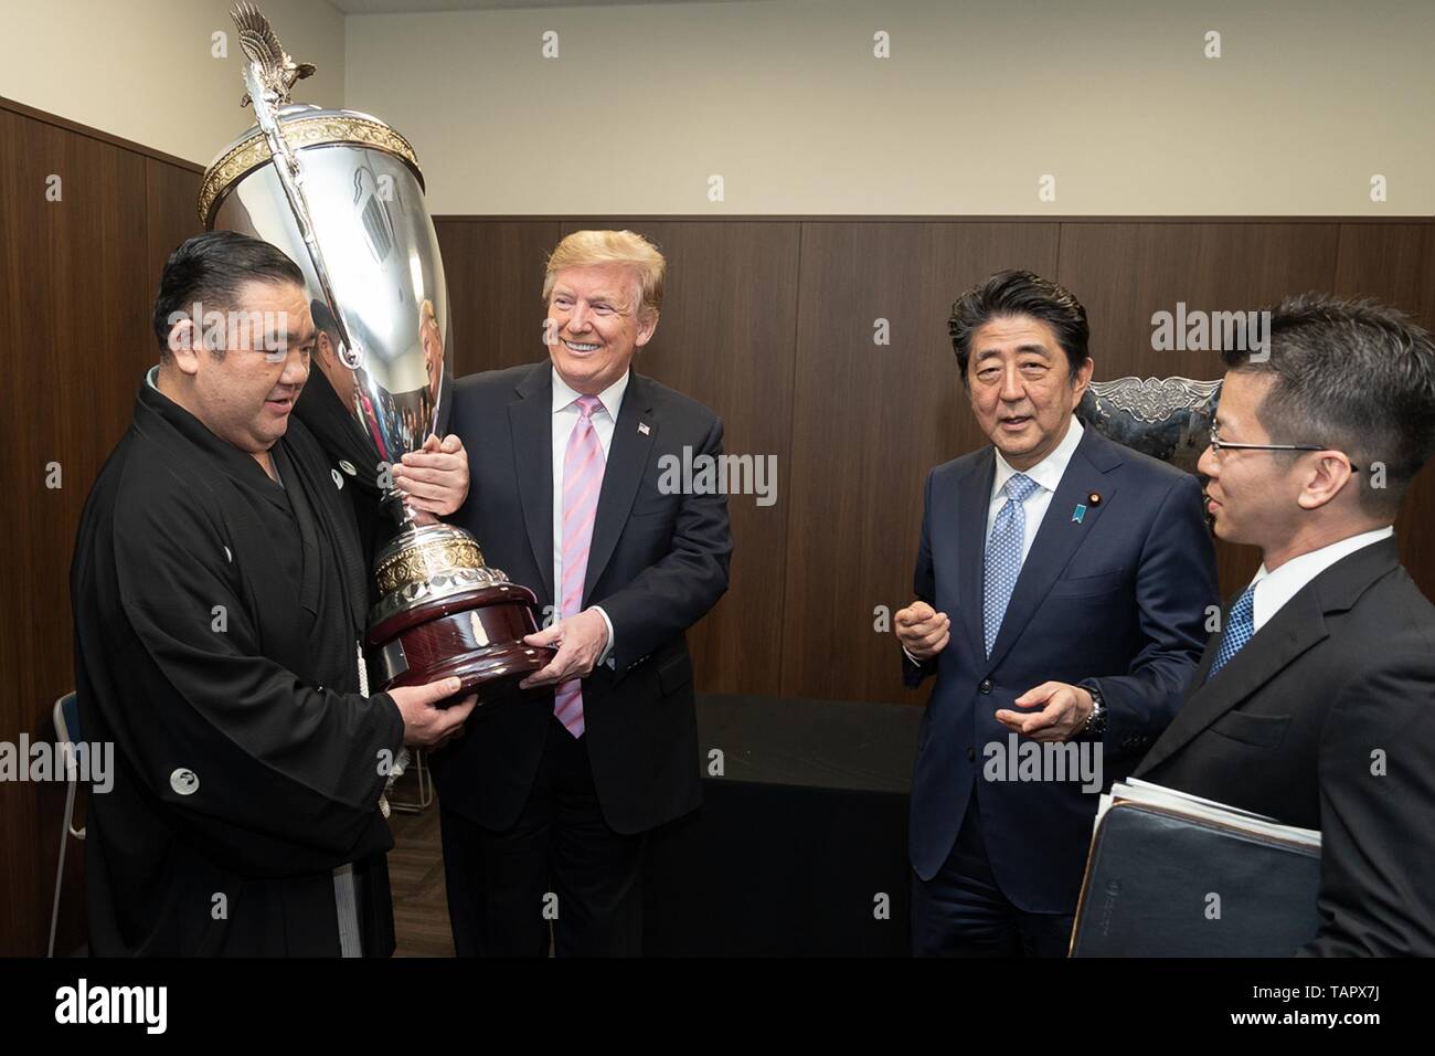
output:
[[[334,356],[314,356],[309,384],[346,412],[337,430],[314,431],[402,523],[375,562],[367,644],[379,687],[459,675],[465,691],[491,695],[552,657],[522,642],[537,629],[537,599],[485,566],[469,533],[416,524],[389,474],[445,434],[452,384],[443,261],[418,158],[377,118],[291,103],[314,68],[286,55],[253,4],[231,14],[245,56],[241,105],[254,105],[257,124],[205,171],[199,218],[284,250],[304,272],[316,326],[337,338]],[[300,418],[319,405],[309,397]]]

